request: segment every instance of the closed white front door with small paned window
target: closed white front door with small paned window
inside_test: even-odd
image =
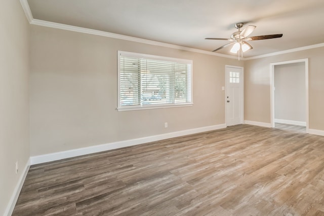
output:
[[[225,78],[226,125],[242,124],[244,116],[243,68],[226,65]]]

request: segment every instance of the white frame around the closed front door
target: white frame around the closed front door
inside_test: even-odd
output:
[[[226,80],[226,69],[228,67],[233,67],[233,68],[238,68],[238,69],[241,69],[242,70],[242,74],[240,76],[240,83],[241,83],[241,93],[240,93],[240,100],[241,100],[241,103],[240,103],[240,107],[239,107],[239,112],[241,114],[240,116],[240,124],[243,124],[244,123],[244,67],[240,67],[240,66],[233,66],[233,65],[225,65],[225,96],[224,96],[224,102],[225,102],[225,124],[227,126],[227,80]]]

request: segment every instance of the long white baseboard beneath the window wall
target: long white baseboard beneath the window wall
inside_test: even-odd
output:
[[[168,138],[173,138],[173,137],[177,137],[177,136],[184,136],[184,135],[200,133],[200,132],[205,132],[205,131],[217,130],[217,129],[221,129],[221,128],[225,128],[225,127],[226,127],[226,124],[212,125],[212,126],[207,126],[207,127],[200,127],[200,128],[182,130],[182,131],[177,131],[177,132],[164,133],[164,134],[159,134],[159,135],[154,135],[154,136],[147,136],[147,137],[143,137],[143,138],[110,142],[110,143],[106,143],[106,144],[102,144],[102,145],[85,147],[85,148],[80,148],[80,149],[73,149],[73,150],[68,150],[68,151],[63,151],[63,152],[56,152],[56,153],[45,154],[45,155],[37,155],[37,156],[30,157],[30,164],[34,165],[34,164],[45,163],[45,162],[50,162],[50,161],[55,161],[55,160],[61,160],[61,159],[65,159],[65,158],[71,158],[71,157],[87,155],[87,154],[92,154],[92,153],[97,153],[97,152],[103,152],[103,151],[112,150],[112,149],[119,149],[119,148],[124,148],[124,147],[129,147],[129,146],[135,146],[135,145],[143,144],[146,142],[158,141],[158,140],[162,140],[162,139],[168,139]]]

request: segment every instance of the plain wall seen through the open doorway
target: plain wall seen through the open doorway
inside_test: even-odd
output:
[[[274,118],[306,122],[305,62],[274,66]]]

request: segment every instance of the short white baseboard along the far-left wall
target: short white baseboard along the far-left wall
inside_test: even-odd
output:
[[[12,214],[12,212],[14,211],[14,208],[15,208],[15,205],[17,203],[21,188],[24,185],[25,178],[26,178],[26,175],[28,173],[29,167],[30,167],[30,160],[27,161],[27,163],[25,165],[25,168],[23,169],[23,173],[21,174],[21,176],[20,176],[20,178],[18,180],[18,183],[17,183],[17,185],[15,187],[15,190],[14,190],[10,200],[9,200],[9,204],[7,206],[7,209],[6,209],[4,215],[10,216]]]

